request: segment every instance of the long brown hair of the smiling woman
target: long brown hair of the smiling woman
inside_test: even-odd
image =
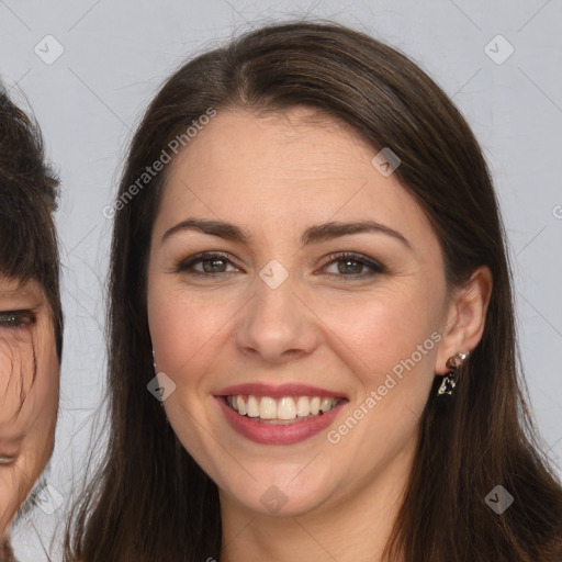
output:
[[[395,173],[432,223],[449,286],[481,265],[494,278],[485,331],[457,395],[440,404],[431,392],[426,405],[386,553],[416,562],[560,561],[562,488],[539,452],[520,391],[505,234],[479,145],[447,95],[407,57],[338,24],[308,22],[262,27],[183,65],[133,138],[111,257],[111,437],[69,522],[67,560],[218,559],[216,485],[179,446],[146,390],[154,376],[147,259],[166,170],[140,187],[138,178],[210,108],[302,104],[352,126],[374,150],[400,156]],[[502,515],[484,502],[498,484],[515,498]]]

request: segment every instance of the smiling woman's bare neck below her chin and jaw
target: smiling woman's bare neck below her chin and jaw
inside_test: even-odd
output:
[[[302,515],[256,514],[221,493],[221,562],[385,562],[382,554],[402,504],[414,446],[355,494]]]

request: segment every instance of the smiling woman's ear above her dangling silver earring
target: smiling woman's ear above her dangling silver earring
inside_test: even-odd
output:
[[[436,374],[450,371],[447,360],[454,353],[471,352],[482,339],[486,312],[492,295],[493,278],[487,266],[481,266],[462,286],[454,289],[441,325],[441,341],[436,357]]]

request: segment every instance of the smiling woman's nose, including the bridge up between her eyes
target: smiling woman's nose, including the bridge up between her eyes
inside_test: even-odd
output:
[[[314,323],[297,292],[296,276],[278,260],[268,262],[256,276],[254,299],[236,330],[239,349],[271,362],[311,352],[316,341]]]

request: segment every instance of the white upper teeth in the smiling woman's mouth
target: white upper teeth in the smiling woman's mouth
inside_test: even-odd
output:
[[[243,416],[261,419],[295,419],[299,417],[317,416],[321,412],[329,412],[339,402],[338,398],[321,398],[319,396],[254,396],[236,394],[226,397],[226,404]]]

